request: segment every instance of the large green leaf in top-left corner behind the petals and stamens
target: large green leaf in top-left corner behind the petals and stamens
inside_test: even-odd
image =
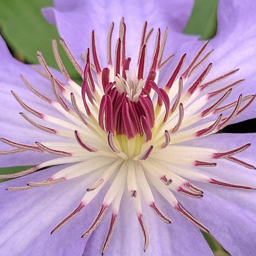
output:
[[[52,6],[52,0],[1,0],[1,34],[15,57],[27,63],[38,63],[36,50],[40,50],[49,66],[58,69],[52,52],[52,38],[60,38],[56,26],[44,19],[42,7]],[[79,77],[63,49],[60,55],[73,78]]]

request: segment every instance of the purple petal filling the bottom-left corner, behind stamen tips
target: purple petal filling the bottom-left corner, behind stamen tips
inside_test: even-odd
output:
[[[50,187],[4,191],[9,186],[45,180],[59,169],[53,167],[1,183],[1,255],[82,255],[87,239],[82,239],[81,234],[94,220],[98,201],[83,209],[57,233],[51,235],[50,231],[78,206],[97,174]]]

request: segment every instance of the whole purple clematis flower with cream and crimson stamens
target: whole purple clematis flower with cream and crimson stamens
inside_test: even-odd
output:
[[[215,133],[255,118],[255,7],[220,1],[199,42],[192,4],[56,0],[82,84],[55,40],[60,72],[1,39],[1,166],[33,166],[0,176],[1,255],[212,255],[200,230],[254,254],[255,136]]]

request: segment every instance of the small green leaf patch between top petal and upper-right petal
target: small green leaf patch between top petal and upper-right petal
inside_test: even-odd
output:
[[[183,33],[201,35],[202,40],[213,38],[217,32],[217,8],[218,0],[195,0]]]

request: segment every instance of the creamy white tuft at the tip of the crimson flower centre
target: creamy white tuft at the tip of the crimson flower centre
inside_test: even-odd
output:
[[[136,73],[134,72],[133,79],[130,78],[129,70],[126,70],[126,79],[122,78],[121,74],[118,74],[114,78],[116,81],[116,89],[118,89],[119,94],[126,92],[127,97],[131,102],[138,102],[138,96],[142,93],[143,86],[146,80],[138,80]]]

